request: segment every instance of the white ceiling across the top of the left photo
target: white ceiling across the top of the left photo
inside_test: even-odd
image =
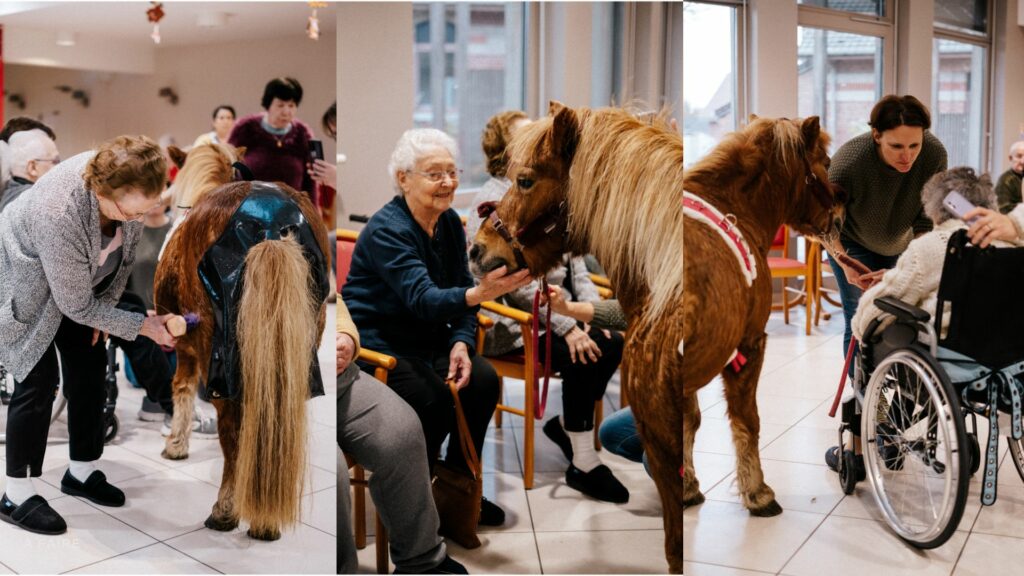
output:
[[[164,2],[158,47],[189,46],[260,38],[303,36],[312,12],[307,2]],[[90,38],[152,43],[150,2],[0,2],[0,24],[7,29],[49,33],[71,31]],[[197,25],[204,12],[228,14],[220,29]],[[337,28],[333,3],[317,8],[321,33]]]

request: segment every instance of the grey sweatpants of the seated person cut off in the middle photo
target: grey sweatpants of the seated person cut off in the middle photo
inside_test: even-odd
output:
[[[372,472],[370,497],[387,529],[395,567],[423,572],[440,564],[447,552],[437,535],[420,419],[391,388],[354,364],[338,376],[338,446]],[[347,470],[340,476],[338,572],[354,574],[358,561]]]

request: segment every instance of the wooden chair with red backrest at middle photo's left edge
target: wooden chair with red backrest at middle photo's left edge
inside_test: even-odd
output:
[[[352,250],[355,247],[355,239],[358,237],[358,233],[350,230],[338,231],[338,291],[341,292],[341,287],[345,284],[345,279],[348,278],[348,270],[352,262]],[[367,348],[360,348],[357,360],[366,362],[374,367],[374,377],[387,384],[388,372],[393,370],[397,364],[397,360],[394,357],[380,354]],[[354,523],[355,532],[355,547],[362,549],[367,547],[367,477],[366,469],[355,462],[349,455],[345,455],[345,462],[348,464],[348,468],[352,470],[352,476],[350,478],[350,483],[352,488],[354,488],[354,494],[352,497],[352,522]],[[380,515],[375,515],[376,517],[376,528],[377,528],[377,573],[387,574],[388,573],[388,541],[387,541],[387,531],[384,529],[384,524],[381,523]]]

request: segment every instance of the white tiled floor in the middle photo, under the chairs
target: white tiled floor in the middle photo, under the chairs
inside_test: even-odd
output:
[[[506,402],[521,405],[521,380],[506,380]],[[618,407],[618,377],[605,395],[605,415]],[[561,413],[561,382],[553,379],[545,421]],[[470,574],[665,574],[662,502],[642,464],[599,452],[601,460],[630,491],[615,505],[584,496],[565,485],[568,462],[537,423],[536,480],[522,484],[522,418],[505,414],[502,427],[492,421],[483,448],[483,494],[506,512],[505,525],[480,530],[473,550],[449,543],[449,553]],[[370,499],[367,499],[370,502]],[[372,518],[372,502],[368,517]],[[373,533],[373,522],[369,530]],[[359,550],[359,573],[376,573],[374,538]],[[394,566],[390,566],[390,571]]]

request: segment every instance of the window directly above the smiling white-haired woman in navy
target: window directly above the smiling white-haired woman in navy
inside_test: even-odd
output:
[[[523,108],[523,5],[415,3],[417,127],[459,142],[460,192],[487,179],[480,134],[494,114]]]

